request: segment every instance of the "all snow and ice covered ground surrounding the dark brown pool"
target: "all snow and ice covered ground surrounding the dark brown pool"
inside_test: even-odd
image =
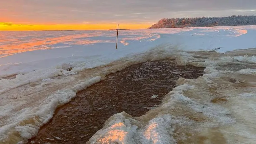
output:
[[[196,80],[179,79],[180,86],[166,95],[163,105],[140,118],[116,114],[90,143],[176,143],[197,137],[211,143],[214,134],[227,143],[255,141],[255,51],[227,51],[256,48],[256,26],[120,30],[119,34],[115,49],[113,30],[0,32],[0,142],[35,136],[57,106],[105,75],[164,58],[175,58],[179,65],[204,66],[206,74]],[[219,53],[200,51],[215,49]],[[231,64],[244,68],[227,71]],[[228,102],[212,103],[214,98]],[[116,132],[120,136],[112,137]]]

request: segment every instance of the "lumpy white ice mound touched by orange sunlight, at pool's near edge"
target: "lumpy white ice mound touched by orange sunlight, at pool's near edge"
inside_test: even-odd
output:
[[[97,131],[87,143],[173,143],[176,141],[170,137],[173,130],[170,127],[171,123],[171,116],[164,115],[150,120],[147,125],[143,125],[129,114],[122,112],[110,117],[106,125]]]

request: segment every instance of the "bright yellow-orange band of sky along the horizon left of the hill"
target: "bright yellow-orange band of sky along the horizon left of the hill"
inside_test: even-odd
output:
[[[141,29],[151,26],[148,23],[119,24],[120,29]],[[31,30],[107,30],[117,28],[117,24],[13,24],[0,22],[0,31]]]

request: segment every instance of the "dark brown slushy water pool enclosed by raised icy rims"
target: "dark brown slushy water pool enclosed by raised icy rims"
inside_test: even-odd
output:
[[[146,62],[110,74],[78,92],[59,107],[52,120],[28,143],[84,144],[112,115],[125,111],[138,117],[160,105],[180,77],[196,79],[204,68],[178,66],[174,61]],[[158,95],[158,98],[151,98]]]

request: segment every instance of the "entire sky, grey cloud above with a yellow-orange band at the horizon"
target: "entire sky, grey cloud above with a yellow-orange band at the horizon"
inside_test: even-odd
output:
[[[256,14],[256,0],[1,0],[0,30],[136,29],[162,18]]]

